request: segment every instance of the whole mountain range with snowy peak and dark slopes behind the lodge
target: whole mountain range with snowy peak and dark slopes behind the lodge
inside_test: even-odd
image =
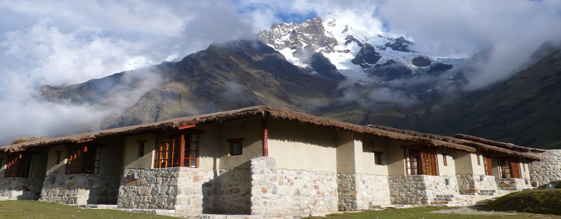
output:
[[[550,96],[561,90],[542,84],[559,84],[554,79],[559,46],[545,43],[524,71],[471,92],[458,88],[465,84],[463,71],[472,60],[416,53],[409,49],[413,44],[383,33],[357,34],[334,16],[316,17],[275,24],[254,39],[214,43],[179,62],[67,87],[43,86],[40,92],[48,101],[111,108],[120,93],[144,87],[123,113],[106,117],[101,128],[275,105],[357,124],[559,147],[561,139],[537,131],[561,124],[546,119],[546,111],[559,108],[546,105],[556,102]],[[149,88],[147,81],[153,82]],[[451,95],[456,96],[448,101]],[[521,128],[528,126],[532,128]]]

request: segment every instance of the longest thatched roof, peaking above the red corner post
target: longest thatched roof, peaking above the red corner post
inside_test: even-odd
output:
[[[427,146],[448,148],[448,149],[464,151],[464,152],[475,151],[475,149],[473,149],[472,147],[458,145],[456,143],[451,143],[451,142],[439,141],[438,139],[434,139],[434,138],[413,136],[410,134],[390,132],[382,129],[365,127],[363,125],[340,122],[333,119],[316,117],[314,115],[297,113],[295,111],[287,110],[284,108],[278,108],[275,106],[252,106],[249,108],[223,111],[219,113],[212,113],[212,114],[205,114],[205,115],[197,115],[194,117],[170,119],[162,122],[107,129],[103,131],[89,132],[84,134],[76,134],[74,136],[50,138],[50,139],[44,139],[42,141],[25,142],[17,145],[0,147],[0,151],[8,151],[8,152],[19,151],[32,147],[73,144],[88,139],[117,137],[117,136],[137,134],[142,132],[166,131],[166,130],[176,129],[183,125],[189,125],[189,124],[200,125],[200,124],[216,123],[216,122],[223,122],[228,120],[249,118],[249,117],[254,117],[256,115],[259,116],[266,115],[274,119],[291,120],[300,123],[318,125],[321,127],[336,128],[348,132],[373,134],[375,136],[390,138],[399,141],[419,143],[421,145],[427,145]]]

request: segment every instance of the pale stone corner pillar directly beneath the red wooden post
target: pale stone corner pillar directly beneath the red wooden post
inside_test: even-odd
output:
[[[277,215],[278,182],[270,179],[277,175],[277,161],[272,157],[251,159],[251,215]]]

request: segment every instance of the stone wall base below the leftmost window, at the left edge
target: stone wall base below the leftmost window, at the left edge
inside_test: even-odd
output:
[[[32,178],[0,179],[0,197],[11,200],[38,200],[43,188],[43,180]]]

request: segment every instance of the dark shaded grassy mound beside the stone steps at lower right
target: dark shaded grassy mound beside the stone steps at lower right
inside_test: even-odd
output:
[[[484,209],[561,215],[561,189],[514,192],[490,202]]]

